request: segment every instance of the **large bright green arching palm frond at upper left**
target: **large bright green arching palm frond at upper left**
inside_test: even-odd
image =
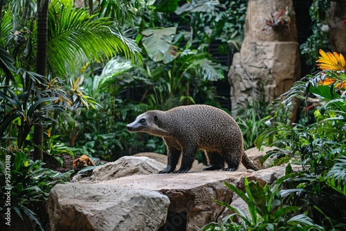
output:
[[[101,62],[123,54],[127,59],[141,61],[140,49],[131,39],[123,37],[107,17],[89,15],[84,9],[64,6],[52,1],[48,19],[48,63],[55,73],[66,75],[83,58]]]

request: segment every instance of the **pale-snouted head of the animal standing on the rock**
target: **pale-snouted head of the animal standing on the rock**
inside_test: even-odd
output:
[[[162,111],[147,111],[138,115],[134,122],[126,125],[127,131],[146,132],[155,136],[165,136],[165,129],[162,128]]]

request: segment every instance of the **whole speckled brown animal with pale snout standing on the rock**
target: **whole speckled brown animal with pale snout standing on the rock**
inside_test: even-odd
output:
[[[203,150],[208,160],[209,165],[203,170],[235,171],[241,161],[247,169],[258,170],[246,156],[237,122],[216,107],[197,104],[147,111],[126,128],[163,138],[168,159],[167,167],[159,173],[188,172],[198,150]],[[181,167],[175,171],[181,155]]]

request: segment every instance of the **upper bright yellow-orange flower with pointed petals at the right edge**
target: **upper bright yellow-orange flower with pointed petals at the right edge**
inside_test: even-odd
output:
[[[345,71],[345,58],[342,54],[334,53],[325,53],[325,51],[320,49],[320,57],[316,61],[316,65],[321,70],[334,70],[334,71]]]

